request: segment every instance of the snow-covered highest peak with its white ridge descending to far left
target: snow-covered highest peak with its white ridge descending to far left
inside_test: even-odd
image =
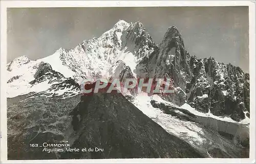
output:
[[[130,44],[126,44],[127,40],[130,40]],[[20,93],[25,94],[27,93],[26,91],[30,91],[27,88],[31,87],[30,82],[35,80],[34,74],[37,72],[38,65],[41,62],[50,64],[54,71],[62,74],[65,78],[72,78],[76,82],[79,82],[84,78],[105,77],[105,73],[115,65],[117,60],[123,60],[125,62],[126,58],[129,58],[129,62],[125,62],[126,65],[133,72],[136,64],[139,62],[137,58],[141,59],[144,56],[148,56],[154,51],[154,48],[155,43],[152,37],[145,31],[141,22],[127,23],[124,20],[119,20],[99,38],[84,40],[75,48],[59,48],[53,55],[37,59],[36,61],[30,61],[24,56],[15,59],[14,61],[17,62],[13,61],[10,63],[9,71],[12,70],[13,63],[20,65],[30,63],[25,64],[20,69],[16,69],[16,67],[19,67],[16,64],[15,71],[8,75],[8,85],[15,89],[22,87],[20,85],[26,87],[24,89],[20,88],[20,90],[24,90],[22,92],[10,92],[8,97],[17,96]],[[130,57],[133,57],[133,59],[131,60]],[[111,77],[112,75],[108,76]],[[108,76],[105,78],[108,78]],[[136,77],[136,75],[134,76]]]

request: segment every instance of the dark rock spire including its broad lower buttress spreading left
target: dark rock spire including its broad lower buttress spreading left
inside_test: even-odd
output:
[[[176,92],[164,99],[182,105],[186,101],[186,84],[192,78],[188,61],[190,55],[176,27],[170,27],[163,41],[150,56],[145,56],[136,66],[141,78],[167,78],[173,81]]]

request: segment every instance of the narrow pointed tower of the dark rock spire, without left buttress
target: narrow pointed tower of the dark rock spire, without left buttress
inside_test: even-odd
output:
[[[174,86],[185,90],[187,81],[191,79],[187,63],[189,54],[184,48],[183,39],[176,27],[173,26],[167,30],[159,49],[154,74],[161,78],[167,75],[174,80]]]

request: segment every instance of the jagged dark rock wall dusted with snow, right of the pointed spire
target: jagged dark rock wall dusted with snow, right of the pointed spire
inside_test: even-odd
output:
[[[187,98],[191,106],[205,113],[210,111],[218,116],[227,115],[236,121],[245,118],[245,75],[241,68],[219,63],[214,58],[195,57],[191,57],[190,67],[194,74],[187,85]]]

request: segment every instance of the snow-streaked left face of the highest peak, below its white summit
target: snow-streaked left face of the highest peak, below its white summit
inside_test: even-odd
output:
[[[72,71],[70,75],[76,82],[84,78],[104,77],[106,69],[121,55],[121,35],[127,27],[129,24],[120,20],[99,38],[84,40],[72,49],[59,49],[56,53],[61,64]]]

